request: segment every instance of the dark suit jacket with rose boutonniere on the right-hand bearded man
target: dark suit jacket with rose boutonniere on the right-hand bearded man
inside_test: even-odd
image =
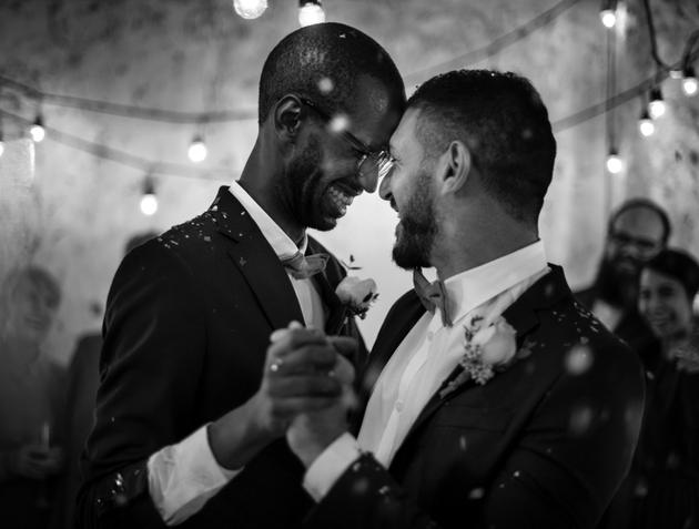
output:
[[[414,292],[398,299],[366,377],[376,379],[423,314]],[[559,267],[504,317],[530,355],[484,386],[466,383],[444,398],[437,393],[391,468],[363,455],[312,511],[307,527],[595,526],[628,471],[638,438],[640,364],[575,303]],[[586,348],[589,366],[569,356],[575,347]]]

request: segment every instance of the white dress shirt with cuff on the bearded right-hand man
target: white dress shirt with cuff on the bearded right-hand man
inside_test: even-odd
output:
[[[464,325],[472,316],[495,322],[527,288],[549,272],[539,241],[444,282],[452,327],[439,309],[427,312],[405,336],[382,370],[369,397],[359,436],[344,434],[311,465],[306,490],[320,501],[358,457],[374,454],[386,468],[413,423],[464,354]]]

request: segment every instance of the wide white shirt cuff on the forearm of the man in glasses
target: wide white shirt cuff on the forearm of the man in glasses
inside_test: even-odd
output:
[[[209,425],[153,454],[148,460],[148,486],[168,526],[196,513],[242,469],[221,467],[209,445]]]

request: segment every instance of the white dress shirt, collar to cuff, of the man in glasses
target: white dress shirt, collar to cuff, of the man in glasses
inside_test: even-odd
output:
[[[233,182],[230,191],[250,214],[280,260],[291,257],[298,251],[305,253],[305,235],[301,247],[297,247],[237,182]],[[287,275],[306,326],[323,328],[323,302],[313,282]],[[197,512],[242,470],[229,470],[216,462],[209,445],[207,427],[209,425],[202,426],[181,442],[164,447],[148,460],[149,491],[155,508],[169,526],[181,523]]]

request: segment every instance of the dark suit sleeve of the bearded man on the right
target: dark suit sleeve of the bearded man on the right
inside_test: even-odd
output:
[[[621,368],[602,360],[606,365],[586,374],[561,375],[534,415],[523,419],[521,435],[484,490],[478,517],[448,520],[444,512],[422,509],[364,454],[310,513],[305,527],[594,528],[629,469],[642,413],[640,369],[630,352],[614,349],[600,354],[626,357]],[[472,499],[469,492],[448,491],[459,505]]]

